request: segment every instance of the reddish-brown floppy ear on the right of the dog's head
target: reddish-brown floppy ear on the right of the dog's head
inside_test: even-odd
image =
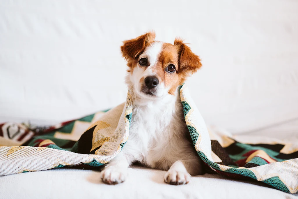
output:
[[[201,68],[201,59],[190,50],[190,47],[183,43],[182,39],[175,38],[174,46],[178,47],[179,53],[178,71],[194,73]]]

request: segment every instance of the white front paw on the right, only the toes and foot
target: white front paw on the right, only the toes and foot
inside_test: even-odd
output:
[[[187,172],[169,170],[164,175],[164,182],[173,185],[187,184],[190,180],[190,174]]]

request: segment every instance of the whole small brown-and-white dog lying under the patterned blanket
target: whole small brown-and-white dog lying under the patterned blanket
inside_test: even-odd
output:
[[[100,174],[104,183],[125,181],[134,162],[167,171],[164,181],[174,185],[202,174],[177,90],[201,67],[201,60],[179,38],[174,45],[154,39],[155,33],[148,32],[121,46],[129,67],[126,83],[133,100],[132,119],[128,141]]]

